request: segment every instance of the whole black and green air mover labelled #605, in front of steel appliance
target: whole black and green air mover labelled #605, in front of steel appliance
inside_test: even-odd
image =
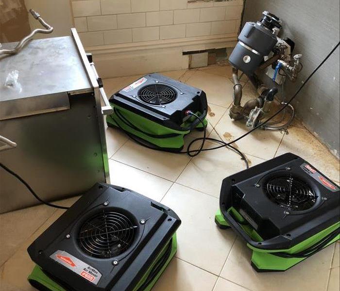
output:
[[[150,291],[180,224],[168,207],[98,183],[29,246],[28,280],[40,291]]]

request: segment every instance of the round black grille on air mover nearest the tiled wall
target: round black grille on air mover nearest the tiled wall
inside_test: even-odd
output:
[[[147,104],[164,105],[175,100],[177,92],[165,84],[152,84],[141,88],[138,97]]]

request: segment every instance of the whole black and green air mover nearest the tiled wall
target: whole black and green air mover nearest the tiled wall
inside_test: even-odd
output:
[[[107,116],[108,126],[163,149],[181,150],[186,134],[203,129],[201,120],[207,125],[204,91],[160,74],[133,82],[114,94],[110,103],[114,113]]]

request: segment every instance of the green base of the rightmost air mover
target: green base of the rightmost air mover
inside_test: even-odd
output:
[[[262,238],[256,233],[253,227],[245,224],[244,218],[239,214],[239,212],[233,208],[229,211],[233,213],[233,216],[240,223],[239,225],[244,229],[244,231],[256,242],[263,241]],[[215,215],[215,223],[221,229],[229,228],[228,222],[224,219],[221,210],[218,210]],[[282,250],[262,250],[255,248],[249,244],[247,246],[253,251],[251,265],[257,272],[283,272],[288,270],[289,268],[295,266],[296,264],[302,262],[306,258],[282,258],[279,256],[275,256],[274,253],[284,252],[288,254],[299,253],[311,245],[321,241],[324,237],[330,234],[332,231],[339,228],[340,222],[329,226],[328,228],[323,229],[319,233],[309,237],[303,242],[300,242],[290,249],[282,249]],[[340,235],[336,236],[332,241],[330,241],[326,246],[336,242],[340,239]]]

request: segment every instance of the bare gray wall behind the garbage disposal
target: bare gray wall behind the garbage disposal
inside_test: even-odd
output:
[[[339,0],[246,0],[243,22],[260,19],[265,10],[282,19],[279,36],[295,42],[293,53],[304,55],[304,68],[296,83],[286,81],[289,99],[339,42]],[[293,104],[306,128],[339,159],[339,48]]]

